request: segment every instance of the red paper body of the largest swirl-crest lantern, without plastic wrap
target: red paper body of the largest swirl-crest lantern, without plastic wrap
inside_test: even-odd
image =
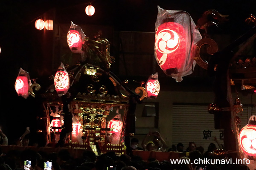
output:
[[[161,24],[156,31],[157,61],[167,74],[177,74],[186,62],[187,35],[183,26],[174,22]]]

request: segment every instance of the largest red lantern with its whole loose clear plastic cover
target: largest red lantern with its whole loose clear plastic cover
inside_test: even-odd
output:
[[[155,23],[155,57],[163,72],[182,81],[192,74],[196,43],[202,39],[192,17],[185,11],[164,10],[158,6]]]

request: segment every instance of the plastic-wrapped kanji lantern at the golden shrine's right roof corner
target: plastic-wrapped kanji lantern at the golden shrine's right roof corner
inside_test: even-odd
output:
[[[148,77],[146,83],[146,91],[149,99],[156,99],[160,91],[160,83],[158,81],[158,73]]]

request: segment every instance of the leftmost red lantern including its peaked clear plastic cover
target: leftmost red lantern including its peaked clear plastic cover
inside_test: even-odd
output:
[[[29,88],[31,86],[31,79],[29,73],[20,68],[19,74],[15,81],[15,90],[19,96],[25,99],[29,96]]]

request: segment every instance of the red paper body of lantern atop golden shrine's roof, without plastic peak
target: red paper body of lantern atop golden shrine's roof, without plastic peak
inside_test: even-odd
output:
[[[70,30],[67,33],[67,44],[74,53],[79,53],[82,48],[82,39],[79,31]]]

